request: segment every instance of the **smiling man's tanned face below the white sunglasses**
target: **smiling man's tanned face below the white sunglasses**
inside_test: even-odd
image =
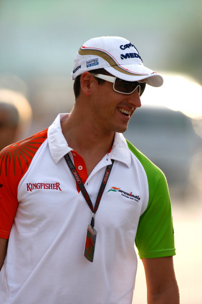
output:
[[[113,83],[107,81],[103,85],[97,84],[91,103],[95,124],[106,132],[120,133],[126,131],[131,116],[140,106],[138,89],[131,94],[118,93],[114,91]]]

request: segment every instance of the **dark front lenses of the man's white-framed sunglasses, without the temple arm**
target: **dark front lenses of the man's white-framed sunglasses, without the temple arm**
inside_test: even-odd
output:
[[[134,82],[125,81],[118,77],[116,78],[115,84],[114,84],[115,90],[117,90],[121,93],[127,93],[127,94],[132,93],[138,87],[138,92],[139,92],[140,96],[144,92],[145,86],[146,86],[146,83],[140,83],[138,81],[134,81]],[[139,89],[139,87],[140,87],[140,89]]]

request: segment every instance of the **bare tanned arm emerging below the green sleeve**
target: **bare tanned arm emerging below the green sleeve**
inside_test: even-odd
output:
[[[148,303],[179,303],[173,257],[142,258]],[[164,300],[162,301],[162,298]],[[160,301],[158,301],[160,299]]]

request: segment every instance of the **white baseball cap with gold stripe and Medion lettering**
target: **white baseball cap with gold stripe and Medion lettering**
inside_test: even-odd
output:
[[[145,67],[135,46],[122,37],[102,36],[84,43],[74,59],[72,80],[85,71],[97,68],[104,68],[126,81],[145,79],[150,86],[163,85],[162,76]]]

